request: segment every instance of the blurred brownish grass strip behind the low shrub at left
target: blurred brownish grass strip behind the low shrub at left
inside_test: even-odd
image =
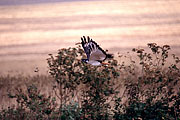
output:
[[[9,98],[8,94],[13,93],[17,89],[25,90],[28,85],[34,84],[42,93],[50,94],[52,92],[52,77],[48,75],[36,75],[36,76],[0,76],[0,91],[1,91],[1,108],[7,108],[16,104],[16,101]]]

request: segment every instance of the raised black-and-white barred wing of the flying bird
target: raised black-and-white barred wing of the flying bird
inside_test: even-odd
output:
[[[87,55],[87,59],[94,60],[94,61],[104,61],[107,58],[106,52],[99,47],[99,45],[89,38],[89,36],[86,37],[83,36],[81,38],[82,47]]]

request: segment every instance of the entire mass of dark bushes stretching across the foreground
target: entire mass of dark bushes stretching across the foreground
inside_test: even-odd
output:
[[[16,105],[2,109],[0,119],[180,120],[180,59],[169,45],[148,47],[149,53],[134,48],[136,58],[118,55],[108,66],[82,63],[79,47],[49,54],[52,94],[26,84],[8,94]]]

